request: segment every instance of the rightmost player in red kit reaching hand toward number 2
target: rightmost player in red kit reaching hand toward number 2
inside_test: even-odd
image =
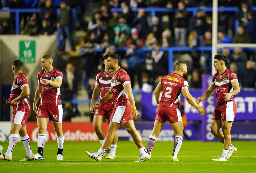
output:
[[[212,77],[208,90],[196,100],[197,103],[207,99],[216,89],[217,106],[212,116],[212,134],[223,143],[221,156],[212,161],[228,161],[237,149],[231,144],[230,130],[236,115],[234,95],[240,92],[237,75],[227,68],[228,58],[222,54],[214,56],[213,66],[218,72]],[[191,106],[193,109],[194,107]],[[220,128],[223,132],[220,131]]]

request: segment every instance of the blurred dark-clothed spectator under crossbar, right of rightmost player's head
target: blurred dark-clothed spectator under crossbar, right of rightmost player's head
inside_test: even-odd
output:
[[[246,60],[246,54],[241,50],[240,47],[236,47],[231,55],[230,62],[235,62],[237,68],[241,72],[245,67]]]

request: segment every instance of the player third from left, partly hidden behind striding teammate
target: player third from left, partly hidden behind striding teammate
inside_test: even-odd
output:
[[[94,104],[95,100],[97,99],[97,97],[99,96],[99,94],[100,94],[99,98],[102,99],[111,87],[111,78],[112,78],[112,75],[114,74],[114,72],[107,68],[108,57],[109,57],[109,54],[104,56],[103,64],[105,65],[105,70],[102,70],[96,76],[96,83],[95,83],[95,87],[92,92],[92,100],[91,100],[91,107],[90,107],[92,114],[94,113],[93,104]],[[102,126],[102,123],[106,119],[108,120],[108,124],[109,124],[113,109],[114,109],[113,98],[110,98],[104,104],[100,105],[100,107],[96,110],[96,112],[94,114],[93,128],[96,132],[96,135],[100,139],[101,145],[103,144],[104,139],[105,139],[105,134],[104,134],[103,130],[101,129],[101,126]],[[116,158],[117,140],[118,140],[118,136],[117,136],[117,132],[116,132],[113,142],[111,144],[111,150],[108,147],[108,149],[106,151],[106,153],[108,153],[110,151],[110,153],[106,157],[107,159],[115,159]]]

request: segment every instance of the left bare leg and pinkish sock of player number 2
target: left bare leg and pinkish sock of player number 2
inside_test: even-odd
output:
[[[161,133],[163,126],[164,126],[164,122],[159,122],[159,121],[155,120],[154,128],[151,132],[151,135],[149,135],[149,137],[148,137],[147,153],[149,154],[149,157],[151,157],[151,152],[152,152],[153,146],[156,143],[156,138]]]

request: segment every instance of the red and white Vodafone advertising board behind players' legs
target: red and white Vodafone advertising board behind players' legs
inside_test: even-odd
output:
[[[11,122],[0,122],[0,141],[9,141]],[[62,122],[62,129],[65,141],[98,141],[98,137],[93,129],[92,122]],[[102,129],[105,134],[108,131],[108,123],[104,122]],[[37,124],[36,122],[27,123],[27,132],[31,141],[37,142]],[[57,135],[53,124],[49,122],[46,131],[46,141],[57,141]],[[20,141],[20,137],[18,138]]]

